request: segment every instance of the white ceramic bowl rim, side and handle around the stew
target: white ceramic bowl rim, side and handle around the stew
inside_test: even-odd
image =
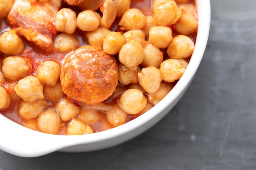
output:
[[[136,119],[88,135],[51,135],[25,128],[0,114],[0,150],[20,157],[38,157],[54,151],[86,152],[121,144],[148,130],[162,119],[180,100],[191,83],[207,45],[211,7],[210,0],[196,0],[198,34],[189,65],[181,79],[162,101]]]

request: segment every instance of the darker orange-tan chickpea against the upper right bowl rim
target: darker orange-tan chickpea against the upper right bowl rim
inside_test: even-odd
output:
[[[174,25],[174,29],[183,35],[190,35],[198,31],[198,20],[195,16],[182,9],[182,15],[180,19]]]

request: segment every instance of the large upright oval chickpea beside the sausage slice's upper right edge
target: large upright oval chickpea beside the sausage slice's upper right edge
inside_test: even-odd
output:
[[[131,40],[122,46],[118,58],[122,64],[134,71],[143,61],[143,48],[137,40]]]

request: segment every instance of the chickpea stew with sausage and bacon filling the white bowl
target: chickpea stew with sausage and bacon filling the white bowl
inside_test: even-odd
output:
[[[182,77],[194,0],[10,0],[0,4],[0,113],[57,135],[146,113]]]

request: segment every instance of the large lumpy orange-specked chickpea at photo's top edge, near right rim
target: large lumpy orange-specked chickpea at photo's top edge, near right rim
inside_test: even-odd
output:
[[[159,26],[175,24],[179,20],[181,13],[174,0],[161,2],[153,8],[153,15]]]

